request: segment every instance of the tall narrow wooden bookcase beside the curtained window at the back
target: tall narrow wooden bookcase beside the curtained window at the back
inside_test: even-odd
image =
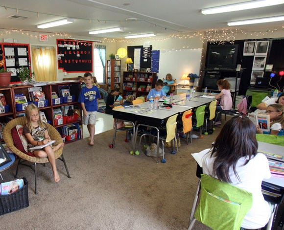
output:
[[[106,73],[105,81],[107,86],[113,90],[115,88],[121,88],[121,70],[120,70],[120,60],[107,60],[106,61]]]

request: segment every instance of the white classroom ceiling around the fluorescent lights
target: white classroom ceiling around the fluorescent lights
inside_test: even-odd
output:
[[[156,33],[187,34],[209,29],[228,28],[227,22],[284,15],[284,4],[218,15],[202,15],[202,8],[244,2],[246,0],[1,0],[0,29],[67,33],[94,38],[124,38],[126,35]],[[129,5],[125,5],[129,3]],[[27,19],[10,19],[12,15]],[[37,24],[66,17],[75,22],[47,29]],[[137,21],[126,22],[127,18]],[[283,28],[284,22],[245,25],[244,31]],[[112,27],[124,31],[89,35],[88,31]]]

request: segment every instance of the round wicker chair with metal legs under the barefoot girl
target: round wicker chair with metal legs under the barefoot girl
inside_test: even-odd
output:
[[[34,171],[34,174],[35,174],[35,178],[34,178],[35,179],[35,194],[37,194],[37,191],[38,191],[37,190],[37,164],[38,163],[45,164],[49,161],[48,161],[47,158],[37,158],[37,157],[34,157],[34,156],[29,156],[16,147],[16,145],[14,143],[15,141],[13,139],[11,131],[17,125],[24,125],[25,123],[26,123],[25,117],[15,118],[15,119],[9,121],[5,125],[5,128],[3,130],[3,139],[4,139],[5,143],[7,144],[7,146],[12,150],[12,152],[15,153],[19,157],[15,178],[17,177],[20,164],[23,164],[25,166],[30,167]],[[63,143],[61,135],[58,133],[58,131],[52,125],[50,125],[48,123],[47,123],[47,132],[48,132],[49,137],[52,140],[56,140],[54,145],[57,145],[59,143]],[[59,159],[60,161],[63,161],[66,172],[67,172],[67,176],[68,176],[68,178],[71,178],[62,151],[63,151],[63,148],[60,148],[57,151],[55,151],[55,159]],[[32,164],[26,164],[25,163],[26,161],[31,162]]]

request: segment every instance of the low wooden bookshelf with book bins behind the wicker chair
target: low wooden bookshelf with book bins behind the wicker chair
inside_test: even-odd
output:
[[[68,87],[71,96],[69,97],[60,97],[57,100],[51,98],[51,92],[56,92],[57,95],[59,95],[59,90],[62,86]],[[8,122],[9,120],[16,118],[18,116],[23,115],[25,112],[24,106],[21,105],[19,106],[16,105],[15,102],[15,94],[23,93],[24,96],[26,97],[28,103],[29,102],[29,92],[28,88],[31,88],[33,86],[17,86],[17,87],[8,87],[8,88],[0,88],[0,93],[2,93],[5,96],[5,101],[7,105],[9,105],[8,110],[5,111],[5,113],[0,113],[0,122],[1,124],[4,124],[5,122]],[[82,138],[82,120],[79,118],[82,115],[81,112],[81,105],[80,103],[77,102],[78,100],[78,95],[80,92],[80,84],[79,82],[64,82],[64,83],[56,83],[56,84],[48,84],[45,86],[41,86],[42,91],[45,94],[45,99],[43,103],[40,102],[33,102],[36,104],[41,112],[44,112],[46,115],[46,118],[48,122],[52,126],[54,126],[58,132],[65,137],[64,135],[64,128],[66,126],[74,124],[78,129],[77,129],[77,134],[69,137],[70,135],[67,135],[65,137],[65,142],[72,142],[77,139]],[[73,115],[73,116],[64,116],[62,120],[58,121],[54,119],[53,112],[56,109],[61,109],[62,106],[71,106],[74,107],[76,106],[78,108],[78,112],[80,115]],[[1,112],[1,109],[0,109]],[[3,112],[3,111],[2,111]]]

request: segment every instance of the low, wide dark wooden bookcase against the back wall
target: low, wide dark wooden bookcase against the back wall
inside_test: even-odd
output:
[[[123,72],[123,95],[146,96],[152,88],[155,88],[156,81],[155,72]]]

